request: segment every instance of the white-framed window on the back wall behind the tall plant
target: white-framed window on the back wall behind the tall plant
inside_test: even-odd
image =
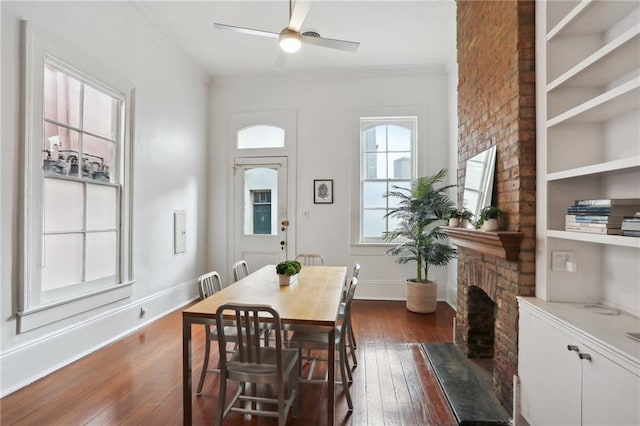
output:
[[[417,117],[360,118],[360,243],[384,242],[394,229],[394,186],[408,188],[415,177]]]

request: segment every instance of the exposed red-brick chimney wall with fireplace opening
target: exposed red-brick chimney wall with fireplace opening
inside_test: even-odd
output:
[[[491,304],[477,306],[491,296],[495,302],[494,390],[509,410],[518,367],[516,296],[535,294],[534,12],[533,1],[457,2],[458,200],[462,201],[467,159],[496,145],[493,204],[505,212],[502,229],[522,232],[524,238],[514,262],[459,250],[456,344],[469,356],[476,353],[470,346],[482,338],[473,330],[487,332],[486,326],[478,328],[475,323],[487,315],[470,317],[492,309]],[[475,266],[470,274],[471,265]],[[495,285],[487,288],[489,296],[479,296],[478,288],[469,287],[479,285],[469,277],[478,276],[482,265],[495,271]]]

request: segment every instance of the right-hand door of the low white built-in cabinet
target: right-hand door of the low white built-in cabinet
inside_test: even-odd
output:
[[[640,425],[640,377],[593,348],[582,361],[582,424]]]

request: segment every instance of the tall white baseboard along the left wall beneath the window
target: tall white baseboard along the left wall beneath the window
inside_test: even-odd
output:
[[[197,297],[195,281],[188,281],[3,352],[0,397],[135,332]],[[143,307],[146,313],[142,316]]]

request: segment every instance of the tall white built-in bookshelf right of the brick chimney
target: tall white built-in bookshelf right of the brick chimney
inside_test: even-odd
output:
[[[640,238],[564,231],[577,199],[640,198],[640,2],[537,1],[536,87],[536,295],[640,316]]]

